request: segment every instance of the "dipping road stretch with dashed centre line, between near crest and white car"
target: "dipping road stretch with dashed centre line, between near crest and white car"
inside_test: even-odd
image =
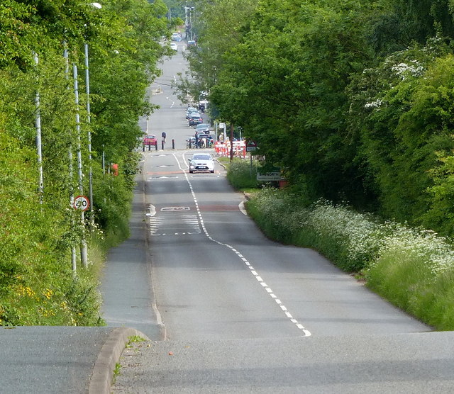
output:
[[[168,339],[424,332],[310,249],[267,240],[217,174],[188,174],[192,152],[145,160],[150,255]]]

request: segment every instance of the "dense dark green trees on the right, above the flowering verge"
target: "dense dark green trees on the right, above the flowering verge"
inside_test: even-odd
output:
[[[452,1],[196,7],[192,76],[294,191],[452,235]]]

